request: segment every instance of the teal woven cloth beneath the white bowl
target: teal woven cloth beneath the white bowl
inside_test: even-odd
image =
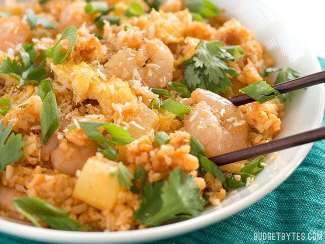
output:
[[[325,58],[319,58],[319,61],[322,69],[325,70]],[[325,126],[325,116],[322,126]],[[237,215],[204,229],[155,241],[152,244],[267,242],[263,239],[254,241],[254,232],[304,232],[306,239],[308,232],[315,232],[322,234],[322,240],[312,242],[325,243],[324,163],[325,140],[322,140],[313,145],[304,162],[282,185]],[[294,241],[293,235],[291,234],[289,242]],[[273,240],[273,242],[279,241]],[[0,243],[40,244],[42,242],[25,240],[0,232]]]

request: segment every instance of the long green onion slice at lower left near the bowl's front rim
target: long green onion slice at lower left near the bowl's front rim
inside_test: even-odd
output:
[[[37,227],[41,227],[41,225],[35,217],[57,230],[89,230],[88,226],[68,217],[66,211],[56,208],[38,197],[16,197],[13,199],[13,203],[20,214]]]

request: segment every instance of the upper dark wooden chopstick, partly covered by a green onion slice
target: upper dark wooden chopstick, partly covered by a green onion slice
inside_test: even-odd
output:
[[[277,89],[280,94],[292,92],[301,88],[306,88],[313,85],[325,83],[325,71],[314,73],[311,75],[303,76],[294,80],[289,80],[280,84],[272,85],[274,89]],[[255,100],[247,95],[240,95],[229,99],[236,106],[240,106],[246,103],[254,102]]]

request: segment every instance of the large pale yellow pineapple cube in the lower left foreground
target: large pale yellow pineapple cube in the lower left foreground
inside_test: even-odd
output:
[[[121,191],[116,174],[110,176],[117,167],[116,162],[100,154],[89,158],[77,180],[73,197],[99,209],[112,209]]]

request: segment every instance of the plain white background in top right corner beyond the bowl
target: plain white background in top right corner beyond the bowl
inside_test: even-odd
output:
[[[245,0],[239,0],[245,1]],[[292,26],[318,56],[325,57],[325,0],[261,0]]]

